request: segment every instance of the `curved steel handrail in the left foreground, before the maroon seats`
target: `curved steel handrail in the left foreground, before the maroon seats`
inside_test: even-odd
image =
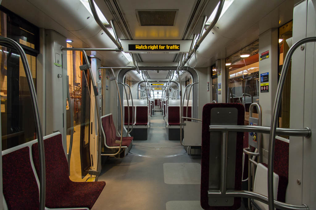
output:
[[[30,96],[32,101],[32,107],[34,112],[36,135],[38,139],[39,149],[39,162],[40,162],[40,209],[45,209],[45,193],[46,193],[46,165],[45,165],[45,150],[44,150],[44,139],[42,132],[42,124],[40,120],[40,111],[38,108],[38,101],[36,96],[36,90],[33,82],[32,72],[28,64],[28,60],[23,48],[14,40],[8,37],[0,37],[0,43],[6,43],[15,48],[20,54],[20,58],[23,64],[25,75],[27,78],[28,88],[30,89]]]

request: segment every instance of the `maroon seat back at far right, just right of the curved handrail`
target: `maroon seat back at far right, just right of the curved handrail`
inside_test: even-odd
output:
[[[286,188],[289,183],[289,143],[276,139],[274,148],[273,172],[279,175],[276,199],[285,202]],[[262,164],[268,167],[267,164]]]

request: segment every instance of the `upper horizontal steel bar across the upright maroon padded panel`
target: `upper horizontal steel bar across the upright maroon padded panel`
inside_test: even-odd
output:
[[[228,125],[217,126],[210,125],[210,131],[222,132],[257,132],[257,133],[270,133],[270,127],[265,126],[251,126],[251,125]],[[309,138],[312,135],[310,128],[276,128],[276,135],[285,136],[304,136]]]

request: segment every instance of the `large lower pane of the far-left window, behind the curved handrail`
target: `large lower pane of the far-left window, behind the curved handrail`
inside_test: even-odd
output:
[[[36,57],[27,55],[36,84]],[[20,55],[0,46],[2,150],[36,139],[33,105]]]

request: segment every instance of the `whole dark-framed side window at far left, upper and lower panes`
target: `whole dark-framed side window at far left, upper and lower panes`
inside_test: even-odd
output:
[[[0,25],[0,35],[20,43],[27,54],[36,87],[39,29],[3,7]],[[15,49],[0,46],[0,68],[2,150],[6,150],[36,139],[36,128],[27,78]]]

